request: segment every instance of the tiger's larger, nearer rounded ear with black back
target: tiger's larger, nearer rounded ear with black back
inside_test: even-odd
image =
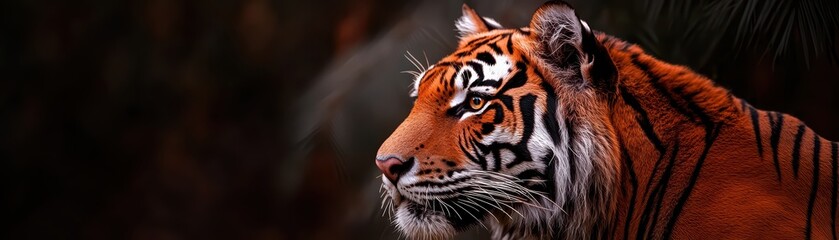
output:
[[[616,90],[617,67],[609,52],[597,40],[588,24],[577,17],[571,5],[563,1],[543,4],[533,14],[530,28],[536,33],[542,57],[552,70],[579,71],[584,81],[575,82],[572,79],[569,82],[591,85],[607,92]]]

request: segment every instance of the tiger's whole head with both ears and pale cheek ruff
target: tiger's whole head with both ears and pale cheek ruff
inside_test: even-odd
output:
[[[597,228],[617,175],[606,49],[563,2],[517,29],[464,5],[456,26],[459,47],[417,77],[413,109],[376,156],[394,223],[421,239]]]

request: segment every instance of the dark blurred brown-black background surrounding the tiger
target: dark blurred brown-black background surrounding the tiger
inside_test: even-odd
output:
[[[541,1],[468,1],[525,26]],[[836,1],[571,1],[839,140]],[[378,145],[461,1],[2,1],[3,239],[393,239]],[[484,238],[476,230],[464,238]]]

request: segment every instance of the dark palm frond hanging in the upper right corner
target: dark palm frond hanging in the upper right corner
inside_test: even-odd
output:
[[[709,35],[719,35],[731,41],[734,50],[772,53],[776,60],[782,56],[800,55],[808,66],[811,58],[825,54],[834,63],[839,60],[837,1],[647,0],[644,6],[648,26],[661,26],[658,19],[663,18],[666,21],[663,30],[683,31],[683,40],[707,39],[697,40],[707,43],[715,40]],[[699,12],[701,21],[695,21],[696,15],[689,9],[698,10],[693,12]],[[692,25],[697,23],[699,25]]]

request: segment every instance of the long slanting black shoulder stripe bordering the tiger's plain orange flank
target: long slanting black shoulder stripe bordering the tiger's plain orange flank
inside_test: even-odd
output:
[[[704,166],[705,163],[705,158],[708,157],[708,152],[711,150],[711,146],[713,146],[714,141],[716,141],[719,136],[720,125],[711,129],[706,129],[705,131],[705,149],[702,150],[702,155],[700,155],[699,159],[696,160],[696,167],[693,168],[693,173],[690,175],[690,179],[688,179],[688,185],[682,191],[682,195],[679,196],[676,206],[673,207],[670,220],[667,222],[664,232],[661,235],[662,239],[670,239],[670,234],[673,233],[673,228],[679,220],[679,215],[682,213],[682,209],[685,207],[685,204],[687,204],[687,200],[693,192],[693,187],[699,179],[699,174],[702,172],[702,166]]]

